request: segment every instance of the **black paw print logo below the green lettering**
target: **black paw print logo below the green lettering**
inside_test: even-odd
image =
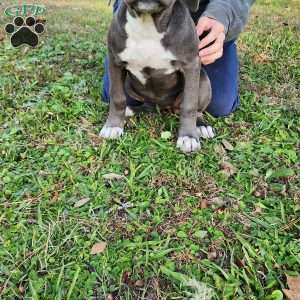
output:
[[[23,17],[15,17],[13,23],[5,26],[5,31],[11,34],[10,41],[13,47],[24,44],[36,47],[39,43],[39,35],[45,31],[45,26],[32,16],[25,20]]]

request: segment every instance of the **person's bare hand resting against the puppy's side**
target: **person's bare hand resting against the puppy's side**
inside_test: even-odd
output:
[[[199,43],[198,48],[201,63],[209,65],[215,62],[218,58],[221,58],[223,56],[223,46],[225,41],[224,25],[217,20],[208,17],[201,17],[196,29],[198,36],[203,34],[205,31],[209,31],[209,34]],[[203,49],[210,43],[212,43],[212,45]]]

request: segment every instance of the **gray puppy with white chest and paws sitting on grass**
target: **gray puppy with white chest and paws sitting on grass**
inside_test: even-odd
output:
[[[197,127],[211,86],[199,62],[189,5],[194,9],[195,1],[122,1],[108,33],[111,102],[100,136],[123,134],[127,93],[145,104],[180,107],[177,147],[183,152],[198,151],[200,137],[213,137],[210,126]]]

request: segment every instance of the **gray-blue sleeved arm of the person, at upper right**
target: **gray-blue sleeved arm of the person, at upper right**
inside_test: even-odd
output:
[[[225,41],[236,39],[243,31],[255,0],[211,0],[202,16],[224,25]]]

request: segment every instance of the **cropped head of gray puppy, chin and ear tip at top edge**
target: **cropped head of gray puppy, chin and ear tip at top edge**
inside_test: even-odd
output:
[[[171,7],[176,0],[124,0],[125,4],[138,14],[155,14]],[[184,0],[188,8],[197,10],[199,0]]]

